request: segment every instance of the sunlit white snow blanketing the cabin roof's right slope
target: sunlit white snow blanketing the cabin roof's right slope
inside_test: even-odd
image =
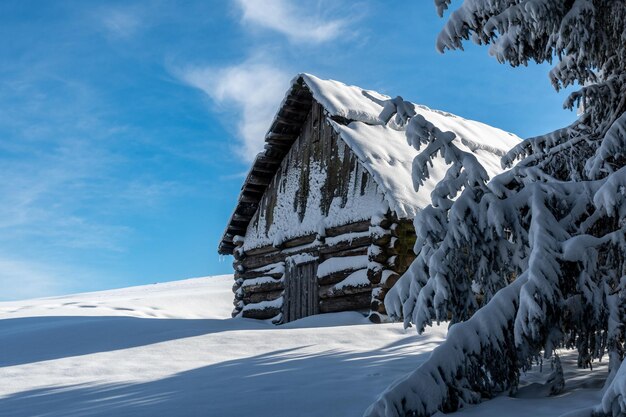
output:
[[[449,165],[441,157],[434,160],[430,179],[415,191],[412,165],[419,151],[407,142],[404,127],[393,121],[385,123],[380,117],[385,102],[391,97],[338,81],[321,80],[310,74],[300,77],[310,88],[313,98],[324,106],[330,116],[350,121],[347,124],[332,123],[382,188],[389,207],[398,217],[414,217],[417,211],[430,203],[430,193]],[[454,132],[457,146],[473,152],[489,177],[502,171],[500,158],[521,141],[512,133],[484,123],[426,106],[414,106],[417,114],[440,130]]]

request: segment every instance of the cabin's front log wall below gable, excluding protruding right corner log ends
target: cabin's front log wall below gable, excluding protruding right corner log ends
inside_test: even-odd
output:
[[[304,317],[301,308],[289,301],[302,297],[301,292],[315,295],[319,304],[316,307],[306,307],[308,314],[317,312],[328,313],[344,310],[369,310],[372,286],[356,285],[334,290],[333,287],[348,278],[350,274],[367,266],[367,252],[372,241],[369,233],[369,221],[360,221],[325,230],[325,236],[312,234],[298,237],[284,242],[280,247],[264,246],[249,252],[243,250],[241,243],[235,250],[235,309],[233,315],[241,314],[244,317],[270,319],[288,322]],[[345,268],[333,273],[318,276],[317,267],[325,261],[354,257],[365,258],[365,265],[349,263]],[[288,266],[290,265],[290,266]],[[308,265],[308,269],[302,266]],[[289,269],[298,268],[300,275],[315,278],[315,290],[307,287],[308,284],[296,286]],[[308,279],[308,278],[304,278]],[[282,307],[276,308],[269,303],[283,298]],[[309,304],[310,305],[310,304]],[[277,317],[279,313],[282,316]]]

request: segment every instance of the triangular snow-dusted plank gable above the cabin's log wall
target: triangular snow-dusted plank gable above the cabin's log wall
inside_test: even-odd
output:
[[[313,102],[248,225],[244,249],[367,220],[384,210],[376,182],[333,130],[323,107]]]

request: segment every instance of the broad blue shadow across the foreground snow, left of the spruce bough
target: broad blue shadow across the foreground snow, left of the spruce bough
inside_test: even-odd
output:
[[[285,349],[150,382],[35,389],[0,398],[0,414],[359,416],[381,389],[428,357],[407,352],[411,343],[361,353]]]

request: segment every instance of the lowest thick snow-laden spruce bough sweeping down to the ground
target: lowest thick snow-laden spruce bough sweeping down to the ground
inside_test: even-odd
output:
[[[387,388],[365,416],[426,417],[514,388],[520,364],[512,327],[527,279],[519,277],[471,319],[450,327],[429,359]]]

